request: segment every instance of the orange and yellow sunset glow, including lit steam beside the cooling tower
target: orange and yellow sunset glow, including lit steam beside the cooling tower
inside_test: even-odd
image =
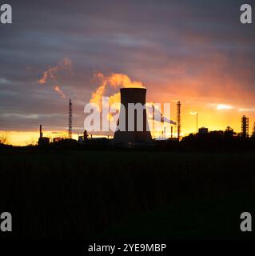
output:
[[[229,66],[229,60],[222,54],[211,54],[209,66],[203,65],[205,59],[192,59],[190,62],[177,64],[170,70],[165,67],[161,70],[160,78],[168,78],[168,75],[174,74],[173,79],[166,79],[158,82],[139,82],[137,79],[131,79],[126,74],[112,73],[105,76],[102,73],[96,74],[100,79],[99,86],[96,87],[90,102],[98,103],[102,107],[102,97],[109,94],[110,105],[120,102],[119,89],[122,87],[144,87],[147,88],[147,102],[160,102],[161,107],[165,103],[171,103],[171,120],[177,119],[177,100],[181,101],[181,136],[186,136],[197,131],[201,126],[209,130],[225,130],[227,126],[233,128],[237,133],[241,132],[241,116],[246,115],[249,118],[249,133],[252,133],[253,122],[255,122],[255,106],[253,99],[255,94],[252,91],[244,90],[245,82],[249,82],[251,74],[228,74],[222,72],[226,66]],[[240,60],[241,61],[241,60]],[[193,76],[189,75],[189,65],[201,66],[202,72]],[[50,73],[51,74],[51,73]],[[50,74],[44,74],[42,83]],[[146,78],[146,74],[140,74]],[[245,80],[246,79],[246,80]],[[244,81],[244,85],[242,84]],[[59,86],[55,87],[58,93],[62,93]],[[115,92],[113,92],[115,90]],[[62,94],[64,97],[64,94]],[[118,108],[117,108],[118,109]],[[79,114],[79,113],[77,113]],[[82,113],[80,113],[82,114]],[[196,117],[197,115],[197,117]],[[108,117],[112,119],[112,116]],[[163,130],[163,129],[162,129]],[[153,137],[161,137],[160,131],[151,131]],[[6,134],[9,144],[14,146],[26,146],[38,142],[38,130],[31,131],[0,131],[0,134]],[[108,135],[107,133],[104,135]],[[112,134],[111,134],[112,135]],[[173,125],[173,137],[177,135],[177,127]],[[45,131],[44,136],[51,139],[67,136],[66,130],[58,132]],[[170,132],[166,133],[170,137]],[[78,134],[74,134],[78,138]]]

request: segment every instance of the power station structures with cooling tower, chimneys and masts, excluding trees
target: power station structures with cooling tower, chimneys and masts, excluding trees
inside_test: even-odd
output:
[[[85,130],[83,136],[78,136],[78,143],[88,144],[91,142],[97,142],[97,145],[100,145],[101,141],[106,143],[106,140],[112,142],[112,145],[147,145],[146,143],[153,142],[153,138],[151,132],[149,130],[149,122],[147,118],[146,112],[146,89],[145,88],[121,88],[121,108],[118,116],[117,129],[114,133],[114,138],[98,138],[92,137],[92,134],[87,133]],[[130,110],[130,105],[133,106],[133,109]],[[177,101],[177,109],[176,109],[176,122],[170,122],[174,124],[177,129],[177,134],[173,136],[173,126],[171,126],[169,136],[166,135],[165,126],[163,126],[163,130],[161,131],[161,138],[154,138],[157,140],[172,140],[172,141],[181,141],[181,102]],[[153,122],[155,122],[155,106],[153,105],[152,115]],[[163,115],[161,114],[161,121]],[[131,127],[131,129],[130,129]],[[228,127],[229,128],[229,127]],[[225,130],[225,134],[230,134],[229,129]],[[219,131],[220,132],[220,131]],[[208,128],[201,127],[198,129],[197,126],[197,134],[209,134]],[[249,138],[249,118],[245,115],[241,118],[241,133],[236,134],[231,130],[232,137],[238,136],[241,138]],[[71,99],[69,100],[68,107],[68,138],[71,141],[73,135],[73,103]],[[253,126],[252,137],[255,137],[255,122]],[[54,143],[61,142],[64,138],[53,138]],[[50,144],[50,138],[43,137],[42,134],[42,125],[40,125],[40,134],[38,139],[39,146],[46,146]],[[110,144],[110,145],[111,145]],[[90,144],[91,145],[91,144]]]

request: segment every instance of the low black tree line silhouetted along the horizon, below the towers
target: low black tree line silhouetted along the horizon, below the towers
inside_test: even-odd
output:
[[[1,149],[11,149],[15,147],[0,143]],[[255,134],[250,137],[242,137],[236,134],[230,127],[225,131],[215,130],[209,133],[189,134],[178,142],[176,138],[168,140],[153,140],[144,143],[126,143],[114,145],[112,140],[107,138],[88,139],[85,143],[70,138],[62,139],[57,142],[42,141],[38,146],[27,146],[31,150],[177,150],[177,151],[253,151],[255,150]]]

